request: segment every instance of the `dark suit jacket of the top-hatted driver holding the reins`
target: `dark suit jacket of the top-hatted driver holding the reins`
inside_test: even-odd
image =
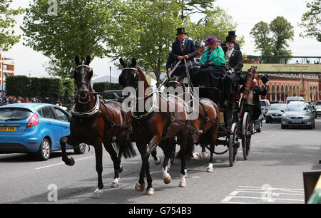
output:
[[[190,61],[194,61],[194,58],[196,56],[196,47],[194,44],[194,41],[191,39],[186,38],[185,44],[184,44],[184,50],[182,51],[182,48],[180,47],[180,41],[175,41],[172,44],[172,58],[177,61],[178,56],[190,56]]]

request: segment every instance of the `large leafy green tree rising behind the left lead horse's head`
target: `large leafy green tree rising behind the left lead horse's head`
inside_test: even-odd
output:
[[[103,58],[112,25],[111,8],[116,0],[61,0],[56,15],[49,13],[48,1],[31,1],[24,17],[26,46],[51,58],[51,76],[72,77],[75,56]],[[57,68],[58,70],[52,70]]]

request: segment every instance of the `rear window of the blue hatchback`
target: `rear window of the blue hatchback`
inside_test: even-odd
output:
[[[33,115],[30,110],[24,108],[0,108],[0,121],[26,120]]]

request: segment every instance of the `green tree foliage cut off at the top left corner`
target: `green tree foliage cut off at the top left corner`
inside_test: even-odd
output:
[[[0,0],[0,50],[8,51],[16,43],[19,43],[21,36],[16,36],[14,16],[23,12],[23,9],[11,9],[12,0]]]

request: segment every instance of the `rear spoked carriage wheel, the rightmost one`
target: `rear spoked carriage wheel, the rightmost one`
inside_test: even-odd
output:
[[[246,112],[243,117],[242,126],[242,148],[244,160],[248,160],[248,154],[251,145],[251,125],[250,125],[250,114]]]

